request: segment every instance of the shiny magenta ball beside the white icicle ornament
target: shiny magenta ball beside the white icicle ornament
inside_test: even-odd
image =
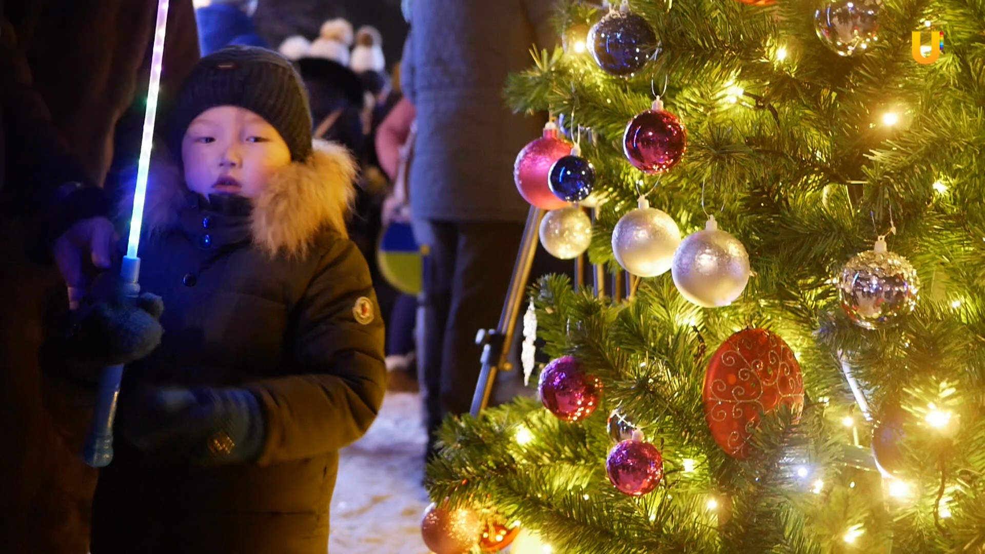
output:
[[[598,407],[602,382],[585,375],[573,356],[563,356],[544,368],[537,390],[548,411],[560,420],[575,422],[592,415]]]

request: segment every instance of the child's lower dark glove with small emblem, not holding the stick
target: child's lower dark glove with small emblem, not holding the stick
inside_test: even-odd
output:
[[[121,394],[121,401],[126,394]],[[245,388],[144,388],[121,406],[120,428],[140,450],[200,465],[256,459],[265,419]],[[125,410],[125,411],[124,411]]]

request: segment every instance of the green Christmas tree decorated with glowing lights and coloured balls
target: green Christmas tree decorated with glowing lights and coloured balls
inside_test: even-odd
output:
[[[985,551],[985,1],[557,21],[517,185],[625,294],[531,290],[537,397],[445,422],[427,544]]]

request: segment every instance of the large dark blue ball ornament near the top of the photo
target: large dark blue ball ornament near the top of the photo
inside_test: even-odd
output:
[[[646,20],[625,9],[611,12],[588,32],[588,48],[603,71],[628,77],[657,51],[657,35]]]

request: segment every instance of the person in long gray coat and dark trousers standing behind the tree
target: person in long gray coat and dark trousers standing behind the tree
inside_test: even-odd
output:
[[[469,411],[481,365],[476,332],[502,310],[530,205],[513,162],[545,118],[512,113],[502,91],[551,48],[553,0],[413,0],[403,88],[418,112],[410,173],[415,234],[429,246],[422,373],[430,448],[448,414]]]

